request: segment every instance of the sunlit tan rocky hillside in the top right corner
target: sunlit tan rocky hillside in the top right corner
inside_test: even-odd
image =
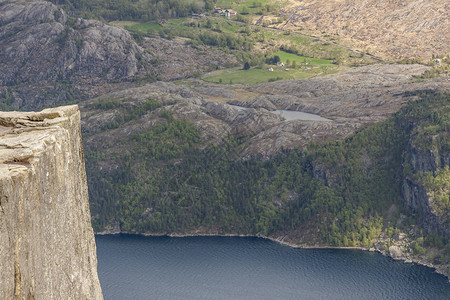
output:
[[[284,29],[351,38],[361,50],[387,58],[450,52],[450,10],[441,0],[291,1]]]

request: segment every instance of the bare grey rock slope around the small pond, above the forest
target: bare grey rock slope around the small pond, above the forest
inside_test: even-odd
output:
[[[160,111],[170,110],[174,118],[186,119],[200,130],[204,145],[220,144],[229,134],[246,135],[250,138],[239,148],[239,156],[268,158],[282,149],[347,137],[361,126],[385,120],[416,99],[420,91],[450,91],[446,78],[413,79],[427,69],[421,65],[372,65],[326,77],[249,87],[196,86],[194,81],[191,87],[158,82],[125,89],[82,104],[83,128],[89,135],[86,146],[89,149],[91,142],[117,145],[130,134],[151,129],[161,120]],[[228,103],[217,102],[218,95]],[[161,107],[126,117],[143,109],[149,98]],[[238,110],[229,104],[249,109]],[[302,111],[329,121],[286,121],[274,110]]]

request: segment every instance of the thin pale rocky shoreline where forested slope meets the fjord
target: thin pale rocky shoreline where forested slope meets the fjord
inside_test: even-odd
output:
[[[251,235],[251,234],[213,234],[213,233],[169,233],[169,234],[151,234],[151,233],[135,233],[135,232],[124,232],[124,231],[102,231],[102,232],[96,232],[95,235],[119,235],[119,234],[126,234],[126,235],[137,235],[137,236],[145,236],[145,237],[170,237],[170,238],[184,238],[184,237],[251,237],[251,238],[261,238],[265,240],[269,240],[272,242],[275,242],[277,244],[288,246],[291,248],[297,248],[297,249],[335,249],[335,250],[358,250],[358,251],[368,251],[368,252],[377,252],[385,257],[389,257],[392,260],[397,261],[403,261],[404,263],[415,263],[417,265],[425,266],[427,268],[433,269],[435,273],[438,273],[445,278],[447,278],[447,281],[450,283],[450,276],[445,273],[443,269],[440,269],[439,266],[435,266],[429,262],[423,261],[423,260],[417,260],[417,259],[406,259],[406,258],[393,258],[391,255],[389,255],[389,252],[382,252],[375,248],[367,248],[367,247],[335,247],[335,246],[310,246],[306,244],[295,244],[291,242],[286,242],[282,238],[273,238],[269,236],[264,235]]]

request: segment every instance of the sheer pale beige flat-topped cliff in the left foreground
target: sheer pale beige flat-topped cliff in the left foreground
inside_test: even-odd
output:
[[[77,106],[0,113],[0,298],[103,299]]]

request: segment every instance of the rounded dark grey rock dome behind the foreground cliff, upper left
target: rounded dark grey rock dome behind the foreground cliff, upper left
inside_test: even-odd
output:
[[[0,4],[0,87],[20,87],[17,107],[49,106],[101,83],[130,81],[148,57],[126,30],[69,19],[50,2]]]

